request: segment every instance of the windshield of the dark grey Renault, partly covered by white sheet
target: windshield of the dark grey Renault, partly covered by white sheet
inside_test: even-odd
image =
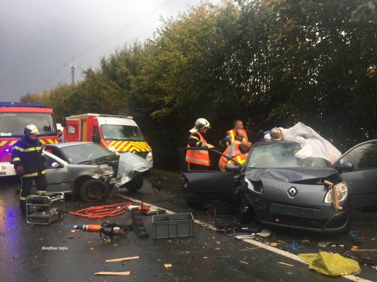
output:
[[[309,167],[328,166],[321,158],[300,159],[295,154],[301,149],[297,143],[269,143],[254,146],[251,150],[247,167]]]

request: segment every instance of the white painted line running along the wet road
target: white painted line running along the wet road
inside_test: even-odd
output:
[[[139,201],[139,200],[136,200],[134,198],[131,198],[131,197],[127,197],[125,195],[122,195],[122,194],[116,194],[117,196],[121,197],[121,198],[124,198],[124,199],[127,199],[127,200],[130,200],[132,202],[135,202],[135,203],[138,203],[138,204],[141,204],[143,203],[144,205],[146,206],[150,206],[151,208],[155,208],[155,209],[163,209],[163,208],[160,208],[160,207],[157,207],[157,206],[154,206],[154,205],[151,205],[151,204],[148,204],[146,202],[142,202],[142,201]],[[165,210],[165,209],[163,209]],[[167,214],[174,214],[175,212],[174,211],[168,211],[168,210],[165,210]],[[194,220],[194,222],[196,224],[199,224],[203,227],[207,227],[209,229],[212,229],[212,230],[215,230],[216,228],[208,223],[204,223],[202,221],[199,221],[199,220]],[[260,248],[263,248],[265,250],[268,250],[270,252],[273,252],[275,254],[278,254],[278,255],[281,255],[281,256],[284,256],[286,258],[291,258],[291,259],[294,259],[296,261],[299,261],[301,263],[304,263],[304,264],[308,264],[310,265],[310,263],[307,263],[306,261],[302,260],[300,257],[298,257],[297,255],[294,255],[294,254],[291,254],[289,252],[286,252],[286,251],[283,251],[283,250],[280,250],[280,249],[277,249],[277,248],[274,248],[272,246],[269,246],[269,245],[266,245],[264,243],[261,243],[259,241],[256,241],[256,240],[253,240],[253,239],[245,239],[245,240],[242,240],[246,243],[249,243],[249,244],[252,244],[252,245],[255,245],[255,246],[258,246]],[[363,279],[363,278],[360,278],[360,277],[357,277],[357,276],[354,276],[354,275],[344,275],[342,276],[344,278],[347,278],[351,281],[355,281],[355,282],[373,282],[373,281],[370,281],[370,280],[367,280],[367,279]]]

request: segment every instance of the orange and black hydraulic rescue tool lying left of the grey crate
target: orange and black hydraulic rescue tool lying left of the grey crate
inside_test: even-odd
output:
[[[106,237],[119,236],[133,230],[133,227],[127,224],[116,224],[114,222],[104,222],[101,225],[99,224],[83,224],[75,225],[75,229],[82,230],[86,232],[98,232],[100,237],[103,240],[106,240]]]

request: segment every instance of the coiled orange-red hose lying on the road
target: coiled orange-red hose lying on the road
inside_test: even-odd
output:
[[[104,217],[112,217],[123,214],[127,207],[132,205],[133,203],[122,203],[122,204],[114,204],[114,205],[103,205],[103,206],[95,206],[82,209],[80,211],[69,211],[69,213],[74,214],[76,216],[83,216],[89,219],[97,219],[97,218],[104,218]]]

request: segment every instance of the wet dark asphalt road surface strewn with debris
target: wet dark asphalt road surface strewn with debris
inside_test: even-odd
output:
[[[19,209],[14,188],[17,178],[0,183],[0,281],[67,282],[67,281],[377,281],[372,265],[359,263],[357,276],[328,277],[312,271],[299,260],[282,256],[261,246],[269,246],[285,254],[318,253],[320,250],[342,253],[346,247],[358,245],[357,255],[377,259],[377,213],[355,210],[352,233],[347,235],[298,232],[284,228],[267,228],[272,234],[255,237],[259,245],[250,244],[214,231],[226,226],[235,216],[213,217],[211,207],[188,206],[181,192],[183,180],[177,176],[152,173],[141,190],[131,193],[119,190],[107,201],[85,203],[67,196],[65,211],[78,211],[92,205],[112,205],[143,201],[175,213],[191,212],[195,220],[194,236],[152,239],[152,216],[143,215],[148,238],[138,238],[135,231],[104,241],[98,233],[72,232],[76,224],[101,224],[106,219],[86,219],[65,214],[48,226],[28,224]],[[111,217],[117,224],[131,224],[131,212]],[[204,224],[204,225],[203,225]],[[207,225],[206,225],[207,224]],[[255,242],[254,241],[254,242]],[[270,247],[272,246],[273,247]],[[299,247],[299,248],[298,248]],[[355,252],[356,253],[356,252]],[[105,262],[114,258],[139,258]],[[165,268],[164,264],[171,264]],[[128,276],[94,275],[101,271],[125,272]]]

